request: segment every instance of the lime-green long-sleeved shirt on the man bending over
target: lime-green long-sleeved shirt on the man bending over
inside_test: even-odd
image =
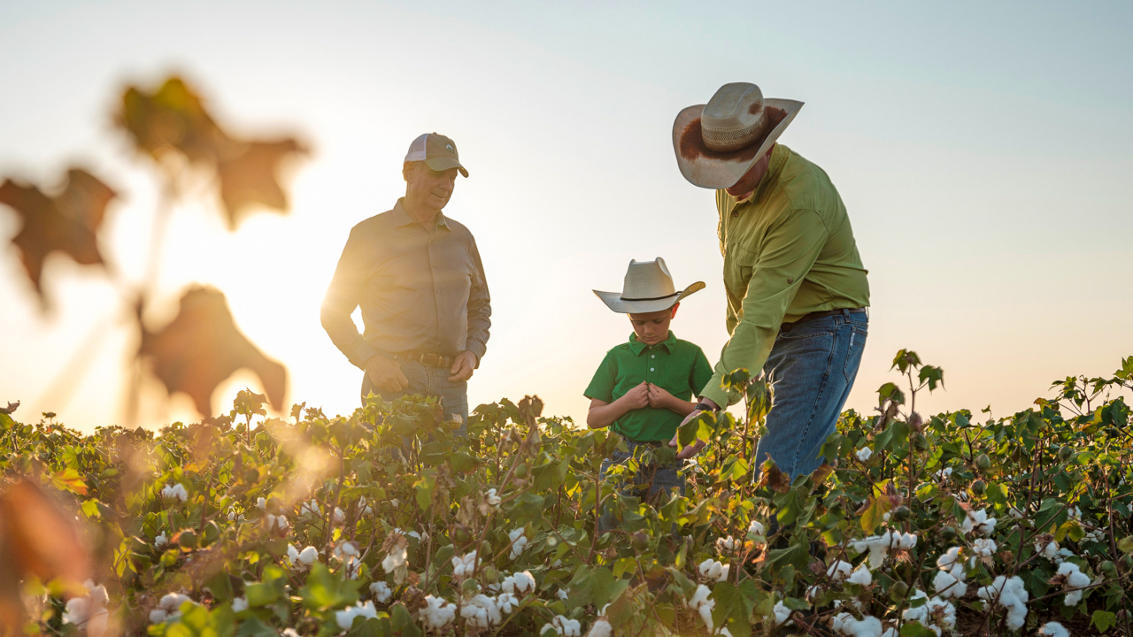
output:
[[[866,307],[869,282],[834,184],[783,144],[750,197],[741,202],[716,190],[716,209],[731,338],[700,396],[726,406],[740,396],[725,391],[721,379],[740,367],[758,374],[781,324],[811,312]]]

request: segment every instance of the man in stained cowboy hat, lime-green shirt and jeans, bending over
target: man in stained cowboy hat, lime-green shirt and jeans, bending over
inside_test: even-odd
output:
[[[776,143],[800,108],[764,99],[755,84],[725,84],[673,125],[681,173],[716,190],[727,292],[731,338],[697,409],[739,401],[721,385],[724,374],[761,370],[775,401],[756,457],[792,477],[823,462],[823,443],[858,374],[869,305],[842,197],[823,169]]]

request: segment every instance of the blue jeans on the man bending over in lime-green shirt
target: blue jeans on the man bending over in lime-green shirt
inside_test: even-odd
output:
[[[866,313],[837,314],[780,331],[764,365],[775,393],[767,434],[756,448],[757,476],[768,456],[792,479],[823,464],[823,443],[858,376],[868,325]]]

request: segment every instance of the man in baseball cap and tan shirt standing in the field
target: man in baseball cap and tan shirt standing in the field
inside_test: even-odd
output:
[[[365,371],[361,396],[436,396],[468,422],[468,379],[479,366],[492,306],[476,240],[441,210],[457,173],[452,139],[414,139],[401,168],[406,196],[350,230],[323,301],[323,328]],[[361,306],[365,334],[350,314]],[[461,425],[461,430],[463,425]]]

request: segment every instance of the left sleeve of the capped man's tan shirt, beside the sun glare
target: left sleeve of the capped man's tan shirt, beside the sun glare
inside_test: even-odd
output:
[[[357,228],[351,230],[323,299],[321,313],[323,329],[331,341],[359,370],[365,370],[366,360],[378,353],[377,348],[358,333],[358,326],[350,317],[361,300],[369,277],[367,252]]]

